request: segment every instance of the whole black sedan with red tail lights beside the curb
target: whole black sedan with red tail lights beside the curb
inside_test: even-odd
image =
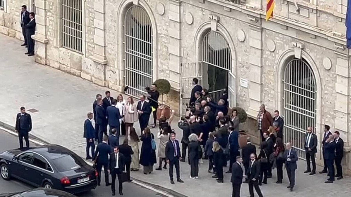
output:
[[[50,144],[2,152],[0,175],[36,187],[80,193],[96,188],[98,172],[71,150]]]

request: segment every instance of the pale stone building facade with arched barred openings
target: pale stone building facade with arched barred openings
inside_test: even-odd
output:
[[[301,157],[306,127],[319,142],[324,124],[339,130],[350,173],[346,0],[275,0],[269,21],[260,0],[4,1],[0,32],[18,39],[20,6],[35,5],[36,62],[119,91],[128,85],[134,96],[165,78],[172,86],[168,102],[177,108],[193,77],[213,94],[228,86],[230,106],[247,111],[246,126],[257,141],[261,104],[280,111],[285,140]],[[319,163],[321,154],[319,143]]]

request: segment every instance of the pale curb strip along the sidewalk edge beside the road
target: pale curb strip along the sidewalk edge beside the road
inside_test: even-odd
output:
[[[6,124],[4,122],[1,122],[0,121],[0,130],[4,130],[5,132],[11,134],[11,135],[14,135],[14,136],[18,136],[18,134],[14,131],[15,128],[9,124]],[[40,138],[38,137],[35,137],[34,135],[32,134],[29,134],[29,142],[32,142],[34,144],[38,144],[38,145],[45,145],[45,144],[50,144],[46,141],[43,141],[41,140]],[[33,140],[34,139],[34,140]],[[85,162],[87,162],[89,165],[93,165],[92,162],[90,161],[87,161],[85,158],[82,158]],[[133,178],[131,176],[131,178]],[[178,193],[174,190],[171,190],[171,189],[167,189],[167,188],[164,188],[160,185],[156,185],[156,184],[152,184],[152,183],[147,183],[145,181],[141,181],[139,179],[135,179],[133,178],[133,181],[132,183],[136,184],[136,185],[139,185],[143,188],[146,188],[148,190],[151,190],[151,191],[154,191],[162,196],[166,196],[166,197],[188,197],[188,196],[185,196],[181,193]]]

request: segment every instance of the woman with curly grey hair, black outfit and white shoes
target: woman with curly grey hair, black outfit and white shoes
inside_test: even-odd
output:
[[[199,150],[201,150],[201,147],[197,140],[197,135],[190,134],[188,144],[188,161],[190,164],[190,178],[192,179],[199,178]]]

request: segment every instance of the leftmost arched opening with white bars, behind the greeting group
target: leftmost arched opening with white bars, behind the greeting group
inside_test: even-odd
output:
[[[146,93],[153,75],[152,25],[141,6],[131,6],[124,18],[124,85],[134,97]]]

